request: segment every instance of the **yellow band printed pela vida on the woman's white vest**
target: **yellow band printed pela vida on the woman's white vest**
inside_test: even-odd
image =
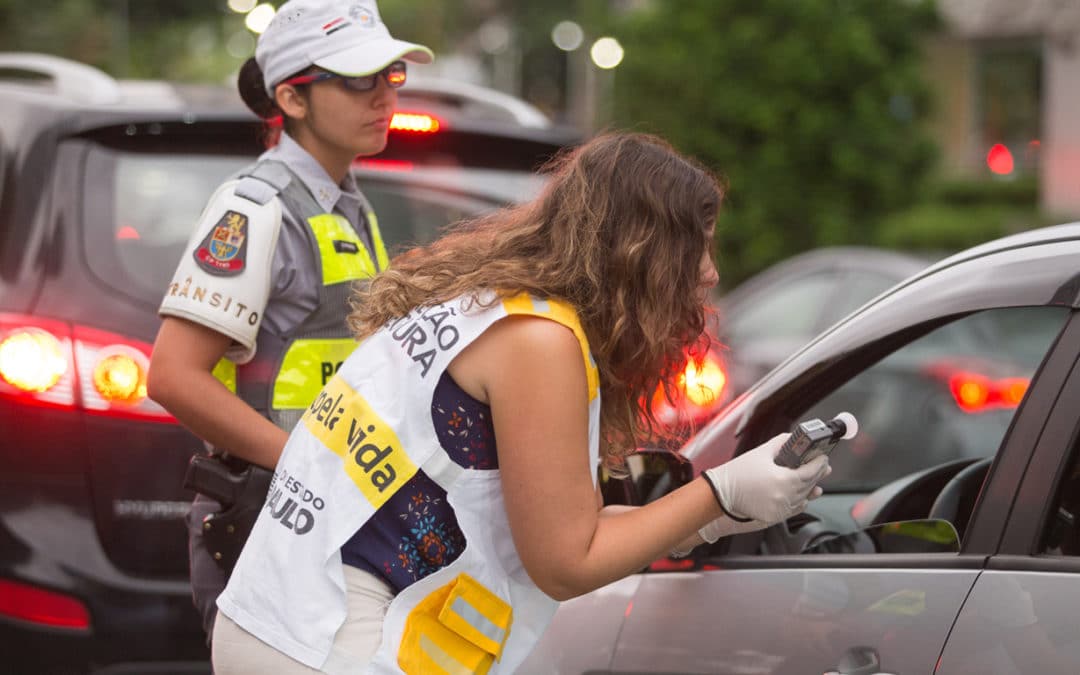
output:
[[[416,475],[394,430],[340,377],[330,379],[300,422],[341,458],[346,475],[376,510]]]

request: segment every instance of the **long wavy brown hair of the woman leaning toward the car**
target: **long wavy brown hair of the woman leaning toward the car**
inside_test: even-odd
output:
[[[599,372],[605,464],[670,432],[653,393],[674,393],[686,351],[708,346],[698,289],[724,190],[698,162],[646,134],[608,133],[552,160],[531,202],[453,226],[393,259],[352,298],[357,338],[417,307],[494,289],[562,299]]]

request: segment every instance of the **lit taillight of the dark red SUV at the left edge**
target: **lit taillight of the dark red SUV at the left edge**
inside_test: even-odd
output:
[[[176,423],[147,399],[150,346],[64,322],[0,314],[0,395],[29,405]]]

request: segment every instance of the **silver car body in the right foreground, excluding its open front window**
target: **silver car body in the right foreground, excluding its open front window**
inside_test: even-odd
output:
[[[688,571],[639,575],[609,665],[594,660],[591,671],[576,672],[1080,672],[1070,611],[1080,556],[1040,550],[1044,524],[1054,517],[1048,495],[1064,489],[1070,464],[1076,481],[1080,455],[1078,260],[1080,224],[943,260],[841,320],[730,404],[684,449],[696,472],[789,429],[856,374],[940,328],[977,324],[995,312],[1049,318],[1038,329],[1021,326],[1018,349],[1027,349],[1027,333],[1031,340],[1038,335],[1029,350],[1035,366],[1022,402],[996,432],[996,453],[984,448],[982,461],[930,467],[869,494],[829,492],[796,525],[721,540],[696,554]],[[890,405],[903,417],[910,404]],[[910,419],[917,423],[914,409]],[[836,450],[846,451],[842,444]],[[967,469],[973,482],[954,480]],[[797,554],[808,539],[799,528],[819,528],[813,534],[822,524],[854,529],[892,521],[885,516],[900,512],[897,504],[922,509],[908,517],[926,517],[939,509],[939,491],[957,485],[973,504],[959,554]],[[589,620],[580,611],[556,615],[565,659],[592,646],[558,622]],[[860,659],[864,670],[852,670]]]

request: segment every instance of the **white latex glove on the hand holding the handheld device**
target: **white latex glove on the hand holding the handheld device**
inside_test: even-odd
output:
[[[706,469],[720,508],[730,516],[761,521],[767,526],[801,513],[821,495],[818,482],[828,475],[828,457],[822,455],[798,469],[777,465],[773,458],[791,436],[782,433],[731,461]]]

